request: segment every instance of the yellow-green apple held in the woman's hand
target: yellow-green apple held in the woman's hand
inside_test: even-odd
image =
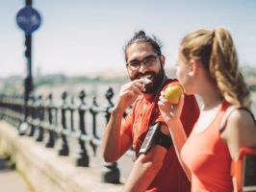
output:
[[[183,89],[180,85],[169,84],[165,90],[165,97],[169,103],[178,104],[182,93],[183,93]]]

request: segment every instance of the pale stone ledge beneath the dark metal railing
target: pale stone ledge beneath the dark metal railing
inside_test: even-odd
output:
[[[0,121],[0,149],[12,156],[37,192],[115,192],[122,187],[102,183],[96,170],[75,167],[70,158],[57,156],[32,138],[18,136],[4,121]]]

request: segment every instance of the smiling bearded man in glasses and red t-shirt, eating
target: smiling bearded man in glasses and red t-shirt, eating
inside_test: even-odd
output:
[[[176,80],[166,78],[161,46],[155,36],[146,36],[140,31],[127,43],[124,52],[131,82],[121,87],[104,133],[104,159],[116,161],[133,146],[136,159],[124,184],[124,192],[190,191],[190,182],[179,165],[169,131],[157,106],[160,92],[166,84],[177,84]],[[130,106],[132,109],[123,120],[124,111]],[[185,96],[181,120],[187,133],[191,132],[198,114],[194,97]],[[154,144],[140,153],[148,127],[156,122],[160,122],[160,132],[152,137]]]

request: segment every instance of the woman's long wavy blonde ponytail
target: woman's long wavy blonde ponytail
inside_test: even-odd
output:
[[[214,32],[209,71],[216,80],[221,96],[232,105],[250,108],[249,90],[239,70],[238,57],[232,37],[227,30]]]

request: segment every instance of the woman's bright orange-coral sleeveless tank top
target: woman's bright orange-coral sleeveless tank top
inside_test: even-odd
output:
[[[228,106],[225,102],[222,104],[206,130],[192,131],[182,148],[182,160],[192,172],[192,191],[233,191],[231,156],[219,132],[222,116]]]

